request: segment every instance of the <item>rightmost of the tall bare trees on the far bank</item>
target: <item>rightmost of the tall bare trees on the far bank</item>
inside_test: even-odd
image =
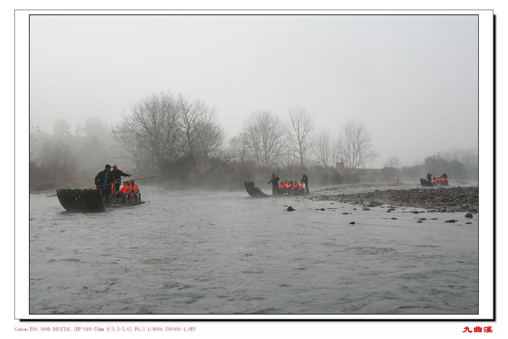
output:
[[[337,154],[348,168],[366,168],[379,153],[372,149],[370,133],[365,123],[355,119],[344,122],[337,142]]]

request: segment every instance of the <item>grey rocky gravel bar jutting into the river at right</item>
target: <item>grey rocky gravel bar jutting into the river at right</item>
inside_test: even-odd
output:
[[[390,189],[355,194],[317,193],[310,199],[347,202],[366,208],[389,205],[390,207],[421,208],[429,212],[478,213],[478,186]]]

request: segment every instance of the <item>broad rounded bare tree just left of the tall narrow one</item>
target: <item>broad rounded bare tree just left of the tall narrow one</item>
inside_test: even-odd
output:
[[[243,122],[241,137],[256,162],[266,165],[280,157],[284,126],[270,111],[255,111]]]

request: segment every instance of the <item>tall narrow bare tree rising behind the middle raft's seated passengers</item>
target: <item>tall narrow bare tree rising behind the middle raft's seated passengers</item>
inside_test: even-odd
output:
[[[307,163],[308,156],[313,152],[314,148],[314,118],[310,112],[299,106],[291,108],[288,110],[288,113],[288,144],[298,157],[300,168],[303,169]]]

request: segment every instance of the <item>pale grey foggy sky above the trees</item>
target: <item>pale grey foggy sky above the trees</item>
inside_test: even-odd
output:
[[[154,91],[199,96],[229,137],[300,105],[357,118],[382,166],[478,147],[477,16],[30,16],[30,118],[121,120]]]

